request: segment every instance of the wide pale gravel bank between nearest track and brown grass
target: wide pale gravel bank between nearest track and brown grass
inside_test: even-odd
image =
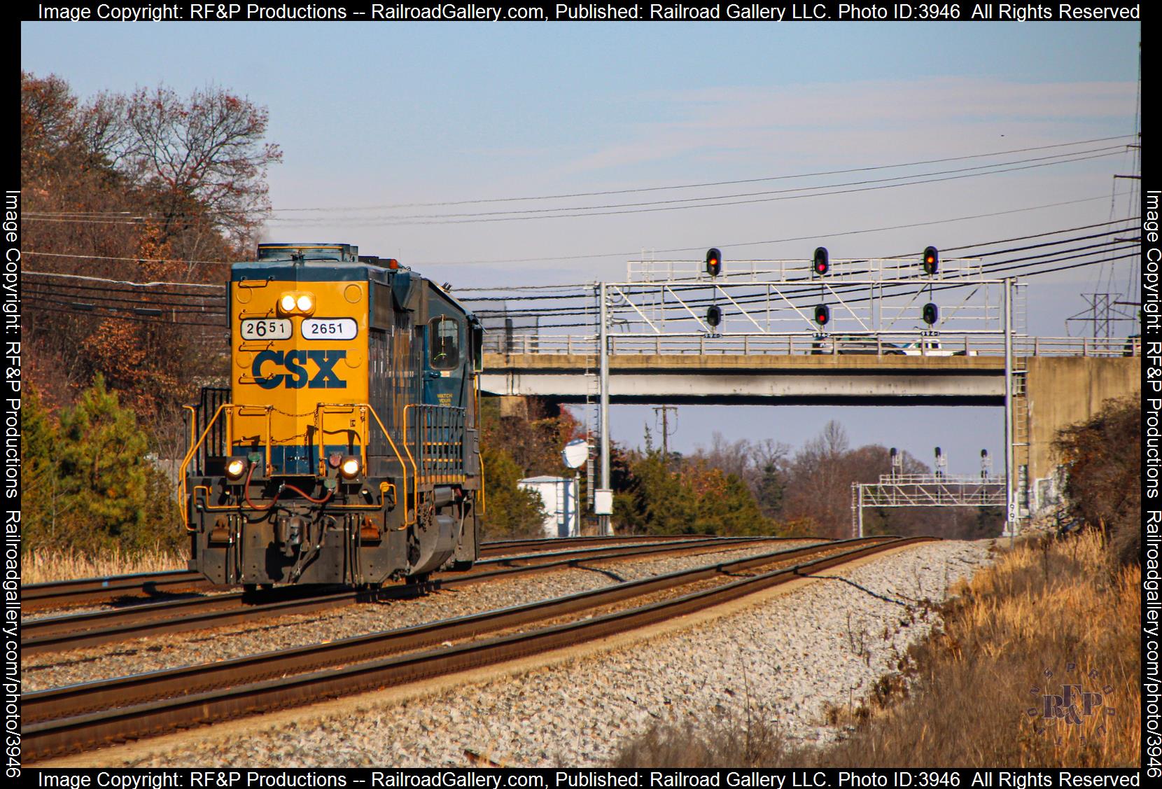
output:
[[[655,722],[696,727],[747,706],[791,745],[835,736],[829,710],[865,697],[935,624],[932,604],[990,561],[991,540],[926,543],[837,567],[690,629],[410,702],[354,698],[277,730],[136,751],[112,763],[177,767],[602,766]],[[469,755],[471,754],[471,755]]]

